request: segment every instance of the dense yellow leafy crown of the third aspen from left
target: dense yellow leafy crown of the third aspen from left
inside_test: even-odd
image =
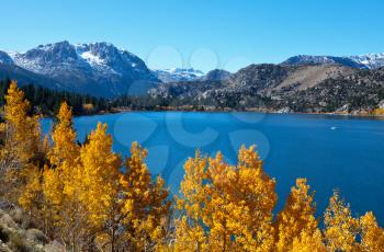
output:
[[[87,206],[91,221],[103,227],[111,208],[118,201],[118,181],[122,160],[112,152],[112,137],[106,135],[106,125],[98,124],[81,147],[81,169],[76,175],[81,181],[80,199]]]

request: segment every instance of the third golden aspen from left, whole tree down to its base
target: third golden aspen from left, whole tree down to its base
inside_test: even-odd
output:
[[[89,220],[98,232],[97,242],[103,250],[116,251],[116,233],[121,219],[120,179],[122,159],[112,151],[112,137],[106,124],[99,123],[80,149],[81,168],[75,180],[80,184],[80,201],[87,207]]]

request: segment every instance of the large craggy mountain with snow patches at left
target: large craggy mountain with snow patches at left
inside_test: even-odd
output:
[[[25,53],[0,54],[0,62],[14,64],[60,82],[68,90],[98,96],[146,93],[160,81],[145,62],[110,43],[41,45]]]

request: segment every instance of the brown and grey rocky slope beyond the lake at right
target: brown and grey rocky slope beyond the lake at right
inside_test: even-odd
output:
[[[192,105],[284,112],[372,111],[384,100],[384,68],[341,65],[251,65],[222,81],[167,83],[150,90]]]

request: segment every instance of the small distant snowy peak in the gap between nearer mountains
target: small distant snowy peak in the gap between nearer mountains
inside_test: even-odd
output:
[[[194,81],[204,76],[201,70],[193,68],[171,68],[163,70],[154,70],[154,75],[162,82],[178,82],[178,81]]]

